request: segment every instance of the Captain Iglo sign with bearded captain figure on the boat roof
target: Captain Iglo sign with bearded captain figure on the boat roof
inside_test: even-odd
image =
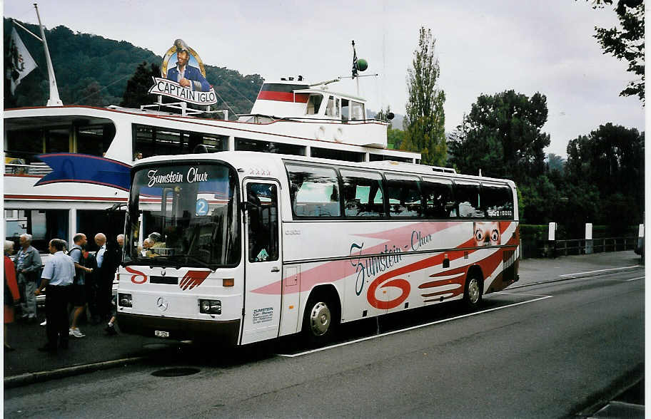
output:
[[[149,93],[195,105],[217,103],[217,95],[206,80],[206,69],[203,68],[201,58],[183,39],[174,41],[174,46],[167,50],[163,57],[161,76],[153,77]]]

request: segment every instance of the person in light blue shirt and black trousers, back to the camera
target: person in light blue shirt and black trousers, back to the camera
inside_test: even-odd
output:
[[[75,274],[75,265],[71,257],[64,253],[64,241],[51,239],[49,251],[54,256],[48,259],[41,274],[41,284],[35,296],[43,289],[45,295],[45,316],[47,343],[39,351],[56,353],[57,341],[63,349],[68,348],[68,301]]]

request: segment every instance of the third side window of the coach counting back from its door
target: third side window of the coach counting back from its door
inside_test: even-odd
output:
[[[421,217],[420,179],[416,176],[385,175],[390,217]]]

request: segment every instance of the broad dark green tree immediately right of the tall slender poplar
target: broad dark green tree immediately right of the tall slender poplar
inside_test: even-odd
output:
[[[545,172],[550,136],[547,98],[514,90],[480,95],[450,141],[450,162],[461,172],[503,177],[527,184]]]

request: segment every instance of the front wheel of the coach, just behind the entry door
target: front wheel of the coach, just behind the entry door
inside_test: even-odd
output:
[[[338,308],[328,298],[311,296],[303,314],[303,334],[311,345],[332,340],[339,326]]]

